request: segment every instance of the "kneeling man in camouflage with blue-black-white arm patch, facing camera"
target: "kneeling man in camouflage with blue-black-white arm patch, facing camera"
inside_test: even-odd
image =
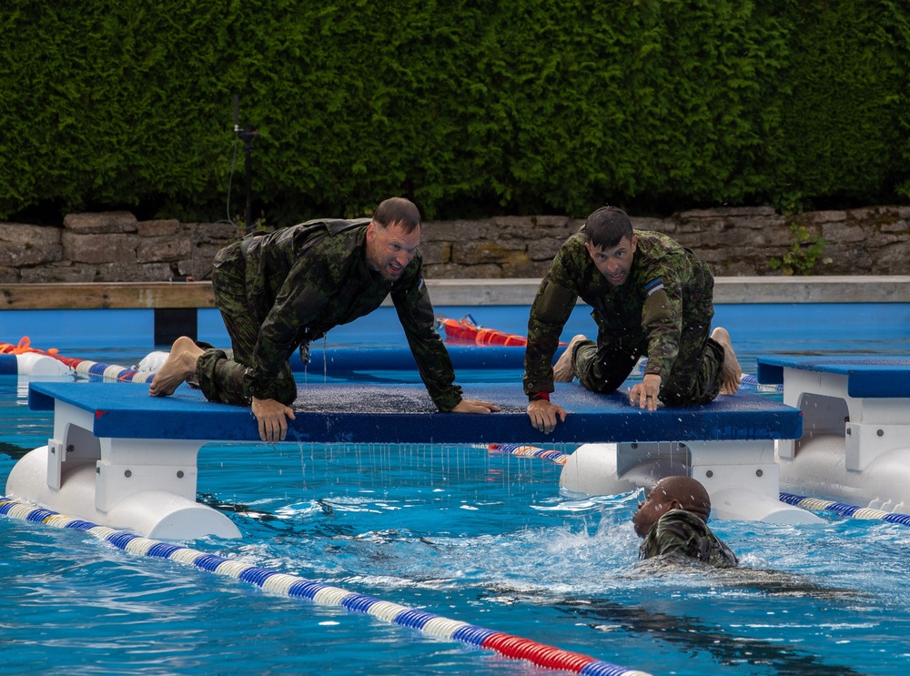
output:
[[[701,259],[670,237],[633,230],[616,207],[602,207],[566,240],[541,281],[528,320],[524,391],[531,424],[551,432],[565,410],[551,403],[554,379],[610,393],[648,358],[630,403],[656,409],[733,394],[742,370],[723,328],[710,333],[714,280]],[[551,360],[577,298],[591,306],[597,341],[572,338]]]

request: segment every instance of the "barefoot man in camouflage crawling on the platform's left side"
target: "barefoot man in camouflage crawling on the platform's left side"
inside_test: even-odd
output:
[[[167,396],[195,376],[207,399],[250,406],[261,439],[284,439],[298,393],[290,356],[298,348],[305,354],[311,341],[369,314],[390,294],[437,408],[499,410],[461,398],[449,353],[433,325],[419,244],[420,212],[409,200],[392,197],[372,219],[309,221],[221,249],[212,288],[233,355],[177,338],[150,394]]]

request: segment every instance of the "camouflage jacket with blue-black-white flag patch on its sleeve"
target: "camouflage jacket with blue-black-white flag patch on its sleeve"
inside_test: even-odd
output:
[[[704,262],[661,233],[634,232],[638,245],[632,269],[619,287],[594,265],[581,231],[569,237],[553,258],[528,320],[526,394],[553,391],[552,358],[578,298],[591,306],[601,334],[640,346],[640,355],[648,358],[645,373],[669,373],[682,329],[711,324],[714,279]]]

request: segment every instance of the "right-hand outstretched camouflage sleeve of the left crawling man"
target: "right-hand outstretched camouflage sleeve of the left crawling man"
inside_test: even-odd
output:
[[[455,385],[455,369],[449,351],[433,324],[433,305],[420,267],[413,278],[407,280],[403,288],[393,290],[391,296],[430,399],[437,409],[454,409],[461,401],[461,388]]]

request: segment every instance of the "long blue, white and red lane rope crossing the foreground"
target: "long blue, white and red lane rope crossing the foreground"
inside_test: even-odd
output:
[[[250,566],[240,561],[224,559],[167,542],[149,540],[13,499],[0,498],[0,514],[56,528],[81,530],[131,554],[187,563],[217,575],[250,582],[271,593],[304,598],[319,605],[342,606],[352,612],[366,613],[379,620],[417,629],[436,638],[460,641],[484,650],[496,651],[516,660],[530,661],[539,667],[570,671],[582,676],[651,676],[645,671],[635,671],[610,662],[595,660],[578,652],[563,651],[544,643],[484,629],[468,622],[448,620],[425,610],[406,608],[398,603],[331,587],[314,580]]]

